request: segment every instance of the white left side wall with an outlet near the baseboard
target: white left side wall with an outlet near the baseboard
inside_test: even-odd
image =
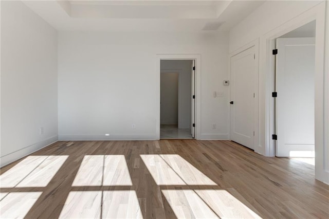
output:
[[[3,166],[58,139],[57,31],[20,1],[1,1],[1,64]]]

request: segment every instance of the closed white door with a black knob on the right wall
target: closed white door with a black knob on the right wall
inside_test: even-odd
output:
[[[231,58],[231,140],[253,149],[254,46]]]

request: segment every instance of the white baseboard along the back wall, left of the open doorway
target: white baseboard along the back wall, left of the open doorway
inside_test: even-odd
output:
[[[105,136],[105,134],[98,135],[59,135],[60,141],[120,141],[120,140],[157,140],[156,134],[130,134],[120,135],[113,134]]]

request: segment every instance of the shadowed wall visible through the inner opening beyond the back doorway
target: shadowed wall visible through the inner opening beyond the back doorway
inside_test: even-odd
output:
[[[161,73],[160,76],[160,124],[178,124],[179,72]]]

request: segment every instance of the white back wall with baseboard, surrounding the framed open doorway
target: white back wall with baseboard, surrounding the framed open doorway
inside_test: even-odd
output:
[[[227,139],[227,33],[100,32],[59,32],[59,138],[156,139],[156,54],[201,55],[200,138]]]

